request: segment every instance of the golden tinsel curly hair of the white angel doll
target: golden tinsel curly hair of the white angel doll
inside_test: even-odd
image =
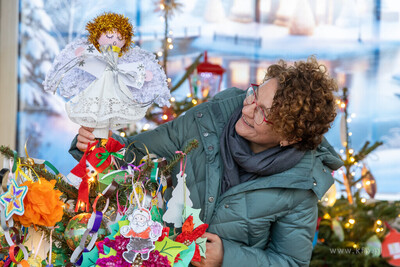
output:
[[[129,19],[124,15],[107,13],[95,17],[92,21],[86,24],[86,30],[89,32],[88,41],[92,43],[97,50],[100,49],[97,41],[101,34],[117,30],[122,38],[125,39],[125,45],[121,47],[119,56],[129,50],[132,45],[133,27]],[[99,50],[100,51],[100,50]]]

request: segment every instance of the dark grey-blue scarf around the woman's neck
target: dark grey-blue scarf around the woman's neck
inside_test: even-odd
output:
[[[255,154],[249,141],[236,133],[235,124],[241,116],[240,107],[233,112],[221,135],[224,163],[221,194],[240,183],[286,171],[295,166],[305,153],[292,146],[276,146]]]

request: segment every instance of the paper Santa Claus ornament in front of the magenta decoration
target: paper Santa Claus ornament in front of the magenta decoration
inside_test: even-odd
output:
[[[130,238],[122,256],[133,263],[138,254],[143,260],[149,258],[149,253],[154,250],[154,242],[162,233],[162,225],[159,222],[153,222],[150,212],[147,209],[139,208],[128,216],[129,225],[124,225],[120,229],[122,236]]]

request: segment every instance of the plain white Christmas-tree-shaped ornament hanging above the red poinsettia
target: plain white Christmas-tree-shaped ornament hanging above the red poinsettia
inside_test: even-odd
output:
[[[186,187],[186,173],[179,172],[176,175],[178,183],[172,191],[172,197],[167,203],[167,211],[164,213],[163,220],[167,223],[173,223],[175,228],[182,227],[182,213],[184,207],[192,207],[190,200],[190,191]]]

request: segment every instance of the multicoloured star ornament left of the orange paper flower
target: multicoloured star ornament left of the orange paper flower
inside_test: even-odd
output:
[[[6,220],[9,220],[14,214],[24,214],[24,198],[27,192],[27,186],[18,186],[14,179],[11,180],[8,191],[0,196],[0,203],[4,206]]]

